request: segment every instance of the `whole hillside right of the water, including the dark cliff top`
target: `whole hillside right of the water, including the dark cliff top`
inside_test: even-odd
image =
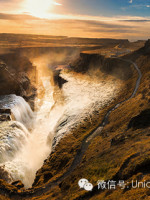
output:
[[[136,180],[139,182],[150,180],[150,124],[149,120],[146,120],[150,119],[149,50],[150,40],[143,48],[122,57],[138,65],[142,72],[140,87],[135,97],[123,102],[111,112],[104,129],[97,130],[96,135],[87,142],[83,155],[79,156],[80,159],[75,161],[72,168],[75,156],[81,154],[82,141],[86,141],[93,129],[101,124],[110,108],[130,97],[138,74],[129,63],[125,65],[124,61],[118,61],[117,58],[105,59],[99,55],[81,54],[71,64],[69,70],[75,70],[74,73],[91,73],[93,66],[96,66],[99,73],[104,73],[108,79],[111,76],[123,81],[122,90],[108,106],[94,112],[92,119],[91,116],[87,116],[69,132],[70,134],[61,139],[55,151],[37,172],[32,189],[25,191],[21,183],[12,186],[1,180],[2,200],[149,199],[149,188],[132,187],[132,180],[134,183]],[[93,66],[91,63],[94,63]],[[118,73],[118,68],[119,71],[123,70],[123,78]],[[81,178],[86,178],[93,184],[92,192],[79,188],[78,181]],[[124,180],[127,187],[121,189],[117,186],[115,190],[98,190],[98,180],[114,180],[116,183]]]

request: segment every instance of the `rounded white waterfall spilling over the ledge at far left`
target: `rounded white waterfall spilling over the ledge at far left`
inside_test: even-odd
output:
[[[0,96],[0,111],[15,121],[0,123],[0,163],[12,160],[27,142],[33,112],[28,103],[15,94]]]

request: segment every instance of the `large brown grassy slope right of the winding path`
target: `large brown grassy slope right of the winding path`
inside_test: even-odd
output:
[[[59,187],[53,188],[46,195],[52,199],[142,199],[148,198],[147,189],[131,189],[121,190],[118,188],[114,192],[93,192],[86,193],[78,188],[78,180],[82,177],[87,178],[96,187],[97,181],[100,179],[108,180],[114,178],[115,180],[126,180],[131,182],[132,179],[148,180],[150,164],[150,139],[149,127],[133,130],[127,130],[127,126],[136,115],[141,111],[148,109],[149,106],[149,80],[150,80],[150,55],[145,54],[141,49],[134,54],[127,57],[135,61],[140,67],[143,77],[138,93],[135,98],[122,104],[115,110],[110,118],[109,124],[105,127],[102,134],[97,136],[89,146],[82,162],[74,172],[67,177]],[[135,83],[135,82],[134,82]],[[130,87],[133,89],[133,87]],[[124,96],[124,92],[122,96]],[[65,154],[66,151],[61,152],[61,147],[70,136],[61,141],[59,156]],[[71,138],[70,138],[71,140]],[[69,145],[73,147],[75,140]],[[71,145],[72,144],[72,145]],[[68,150],[69,150],[68,149]],[[72,154],[70,150],[67,154]],[[73,151],[74,152],[74,151]],[[58,156],[55,152],[55,156]],[[68,157],[68,155],[66,156]],[[74,155],[74,154],[73,154]],[[57,160],[58,161],[58,160]],[[56,162],[57,162],[56,161]],[[59,161],[58,161],[59,162]],[[49,163],[49,166],[51,163]],[[139,176],[140,173],[140,176]],[[146,175],[145,175],[146,174]],[[56,191],[56,192],[55,192]],[[35,199],[40,199],[37,197]],[[44,199],[44,197],[43,197]],[[46,196],[45,196],[46,199]]]

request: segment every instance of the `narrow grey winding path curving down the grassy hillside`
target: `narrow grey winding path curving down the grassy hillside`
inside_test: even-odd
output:
[[[24,199],[26,197],[39,196],[39,195],[42,195],[43,193],[48,192],[51,188],[59,185],[80,164],[80,162],[82,161],[83,155],[86,152],[86,150],[88,149],[88,146],[90,145],[90,143],[92,142],[92,140],[97,135],[99,135],[102,132],[103,128],[107,124],[108,118],[109,118],[111,112],[114,111],[115,109],[117,109],[122,103],[130,100],[131,98],[133,98],[136,95],[137,90],[138,90],[139,85],[140,85],[140,82],[141,82],[141,78],[142,78],[142,73],[141,73],[140,69],[138,68],[138,66],[137,66],[136,63],[134,63],[134,62],[132,62],[130,60],[125,60],[125,59],[121,59],[121,58],[117,58],[117,59],[122,60],[122,61],[126,61],[126,62],[132,64],[134,66],[135,70],[138,73],[138,79],[136,81],[136,86],[134,88],[134,91],[133,91],[132,95],[128,99],[126,99],[126,100],[124,100],[124,101],[116,104],[113,108],[111,108],[110,110],[108,110],[108,112],[106,113],[103,121],[92,132],[90,132],[90,134],[88,134],[83,139],[81,147],[77,151],[77,154],[76,154],[76,156],[75,156],[75,158],[74,158],[74,160],[72,162],[72,165],[69,167],[69,169],[67,170],[67,172],[65,172],[61,177],[57,178],[55,181],[47,183],[44,187],[35,189],[33,193],[30,190],[28,190],[28,191],[22,192],[20,194],[12,194],[11,197],[13,199]]]

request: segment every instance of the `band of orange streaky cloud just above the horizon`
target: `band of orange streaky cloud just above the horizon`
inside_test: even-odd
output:
[[[68,18],[67,18],[68,17]],[[25,14],[0,13],[0,32],[70,37],[148,39],[150,18],[136,16],[57,16],[41,19]]]

